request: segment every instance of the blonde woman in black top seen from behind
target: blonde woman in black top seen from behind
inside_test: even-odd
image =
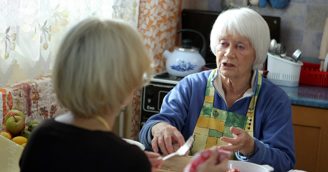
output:
[[[128,23],[90,17],[75,24],[56,55],[53,86],[69,113],[39,124],[21,171],[154,171],[159,153],[143,152],[112,128],[152,73],[140,34]],[[147,76],[145,78],[145,76]]]

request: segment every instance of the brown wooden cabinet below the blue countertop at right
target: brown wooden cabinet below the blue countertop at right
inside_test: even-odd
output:
[[[295,170],[328,171],[328,109],[292,105]]]

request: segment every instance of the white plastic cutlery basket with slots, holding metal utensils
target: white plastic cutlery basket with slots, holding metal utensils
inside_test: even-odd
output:
[[[267,79],[278,86],[297,87],[303,63],[293,62],[268,53]]]

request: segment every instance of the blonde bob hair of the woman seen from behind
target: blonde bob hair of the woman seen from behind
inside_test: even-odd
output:
[[[128,23],[86,18],[63,37],[53,72],[58,102],[79,117],[118,112],[149,81],[152,59]]]

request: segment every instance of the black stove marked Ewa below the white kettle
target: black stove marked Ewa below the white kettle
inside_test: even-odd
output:
[[[151,77],[150,83],[142,88],[140,130],[149,117],[160,112],[164,97],[183,78],[170,75],[166,71]]]

